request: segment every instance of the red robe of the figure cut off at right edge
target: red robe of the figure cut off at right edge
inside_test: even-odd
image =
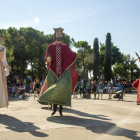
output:
[[[140,79],[137,80],[137,81],[134,81],[132,86],[134,88],[138,88],[138,91],[137,91],[137,105],[140,105]]]

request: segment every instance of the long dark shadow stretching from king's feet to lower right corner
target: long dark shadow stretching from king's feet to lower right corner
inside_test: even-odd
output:
[[[82,126],[93,133],[124,136],[126,138],[140,140],[140,137],[137,136],[137,131],[118,127],[116,124],[111,122],[78,118],[74,116],[54,116],[47,118],[47,121],[66,125]]]

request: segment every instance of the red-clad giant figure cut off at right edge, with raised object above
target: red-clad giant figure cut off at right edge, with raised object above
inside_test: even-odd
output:
[[[137,55],[138,58],[135,61],[139,60],[139,62],[140,62],[139,55],[137,53],[136,53],[136,55]],[[132,86],[134,88],[137,88],[137,105],[140,105],[140,77],[139,77],[138,80],[133,82]]]

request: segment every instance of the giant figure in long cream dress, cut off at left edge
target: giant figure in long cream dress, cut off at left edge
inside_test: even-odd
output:
[[[2,40],[3,35],[0,33],[0,44]],[[6,60],[6,48],[0,45],[0,108],[8,107],[9,105],[6,81],[6,76],[9,75],[9,71],[11,71],[11,67]]]

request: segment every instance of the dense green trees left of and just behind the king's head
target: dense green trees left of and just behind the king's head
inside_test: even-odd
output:
[[[0,29],[4,36],[3,46],[7,49],[7,60],[12,67],[11,77],[27,74],[33,78],[46,76],[45,54],[49,44],[54,42],[54,35],[44,35],[43,32],[33,29],[32,27],[16,28],[9,27],[7,30]],[[74,39],[64,34],[63,43],[69,47],[74,46]],[[31,70],[27,70],[27,66]]]

